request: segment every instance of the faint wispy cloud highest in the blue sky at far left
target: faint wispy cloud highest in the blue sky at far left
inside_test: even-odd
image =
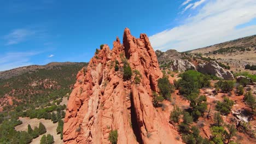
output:
[[[30,29],[14,29],[9,34],[4,36],[4,39],[7,41],[5,45],[19,44],[34,34],[36,34],[36,31],[32,31]]]

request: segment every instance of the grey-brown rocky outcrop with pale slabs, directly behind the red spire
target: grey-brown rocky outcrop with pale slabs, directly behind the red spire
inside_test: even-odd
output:
[[[162,52],[160,50],[155,51],[158,61],[162,65],[167,66],[170,70],[186,71],[196,69],[195,65],[190,63],[187,59],[182,59],[183,54],[176,50],[167,50]]]

